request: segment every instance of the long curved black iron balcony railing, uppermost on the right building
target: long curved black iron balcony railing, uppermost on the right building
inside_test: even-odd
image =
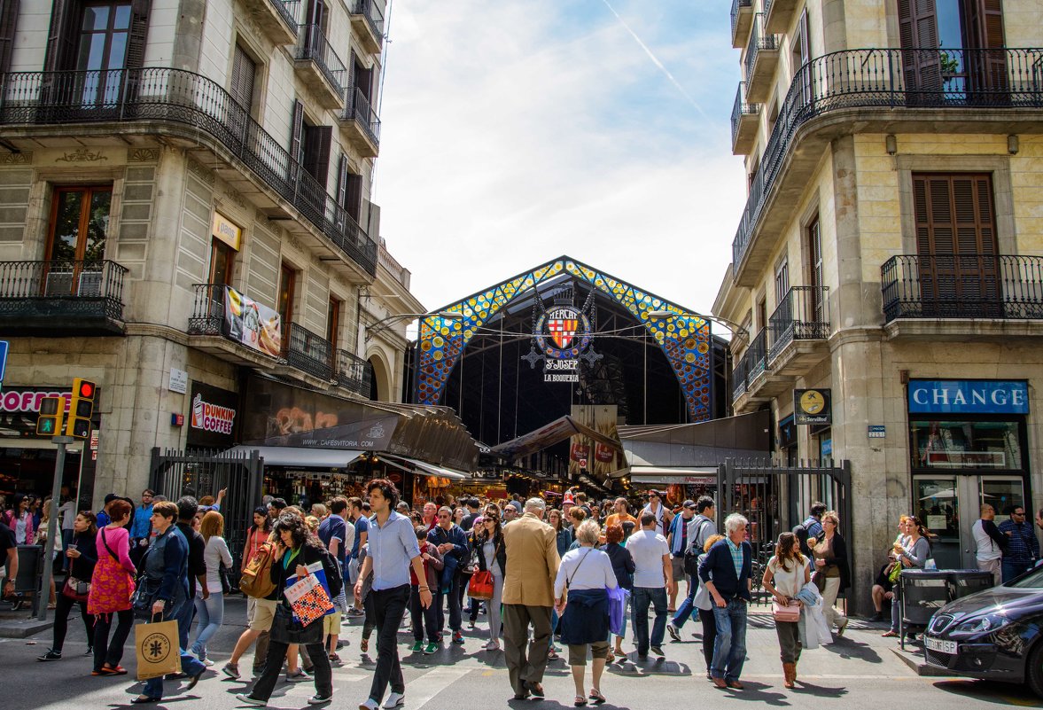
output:
[[[852,49],[793,77],[732,242],[737,275],[797,129],[843,108],[1043,107],[1043,49]]]

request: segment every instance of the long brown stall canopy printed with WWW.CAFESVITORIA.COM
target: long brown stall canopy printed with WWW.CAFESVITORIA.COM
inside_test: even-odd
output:
[[[245,402],[241,432],[248,448],[385,452],[454,471],[478,464],[478,442],[447,407],[337,397],[260,374],[247,380]]]

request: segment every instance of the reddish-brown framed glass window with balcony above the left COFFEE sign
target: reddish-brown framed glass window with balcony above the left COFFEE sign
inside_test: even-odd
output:
[[[47,259],[77,262],[104,259],[112,200],[111,186],[56,188]]]

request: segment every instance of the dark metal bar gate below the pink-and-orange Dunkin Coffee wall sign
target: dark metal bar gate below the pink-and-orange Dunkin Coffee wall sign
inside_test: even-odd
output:
[[[253,522],[253,509],[261,505],[261,484],[264,481],[264,460],[258,451],[248,457],[220,452],[186,452],[152,449],[149,486],[157,494],[176,501],[183,495],[200,498],[217,496],[227,489],[221,504],[224,516],[224,539],[232,553],[229,576],[239,580],[239,558],[246,544],[246,531]]]

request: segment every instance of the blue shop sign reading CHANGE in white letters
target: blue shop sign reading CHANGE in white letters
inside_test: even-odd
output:
[[[911,380],[913,414],[1028,414],[1024,380]]]

